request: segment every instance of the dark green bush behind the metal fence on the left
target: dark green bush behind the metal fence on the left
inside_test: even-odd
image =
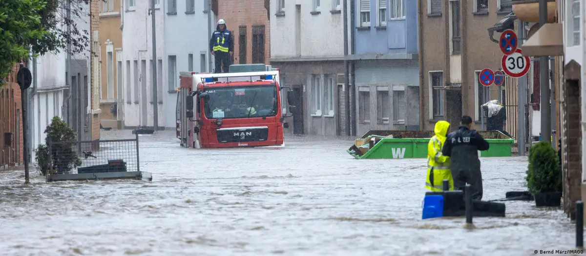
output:
[[[81,159],[73,149],[76,146],[76,133],[59,116],[53,117],[45,134],[45,145],[37,146],[35,156],[42,175],[53,171],[67,174],[81,165]]]

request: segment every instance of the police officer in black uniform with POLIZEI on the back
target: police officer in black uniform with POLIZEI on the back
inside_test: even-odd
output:
[[[472,189],[472,199],[482,199],[482,174],[478,150],[488,150],[489,144],[472,129],[472,117],[462,116],[458,130],[448,134],[442,154],[450,157],[454,189],[464,191],[466,183]]]

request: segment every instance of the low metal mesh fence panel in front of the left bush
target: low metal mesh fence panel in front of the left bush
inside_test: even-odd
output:
[[[49,174],[140,171],[135,139],[49,142]]]

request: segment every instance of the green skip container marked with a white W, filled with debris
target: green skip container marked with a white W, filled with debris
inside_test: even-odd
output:
[[[481,157],[510,157],[515,140],[499,131],[478,131],[490,144],[489,150],[479,151]],[[392,135],[392,137],[391,137]],[[427,144],[432,131],[370,130],[347,152],[356,159],[427,158]],[[369,137],[377,140],[369,147]],[[358,147],[356,144],[362,144]]]

